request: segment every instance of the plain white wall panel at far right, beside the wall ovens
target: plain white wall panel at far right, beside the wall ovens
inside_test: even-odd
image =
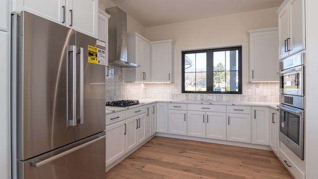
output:
[[[306,0],[306,179],[317,179],[318,167],[318,23],[317,0]]]

